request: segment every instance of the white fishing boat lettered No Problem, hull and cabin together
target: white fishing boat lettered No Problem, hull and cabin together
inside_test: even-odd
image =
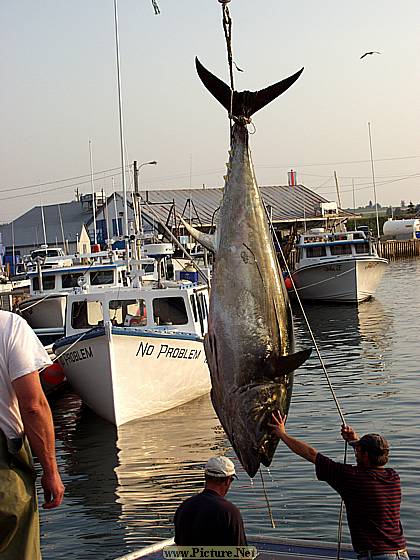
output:
[[[54,352],[99,416],[121,425],[210,390],[203,339],[208,289],[191,282],[69,294]]]

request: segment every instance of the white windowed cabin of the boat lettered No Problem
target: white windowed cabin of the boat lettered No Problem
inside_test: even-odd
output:
[[[66,336],[111,322],[114,327],[177,330],[204,336],[209,296],[206,286],[125,288],[70,294]]]

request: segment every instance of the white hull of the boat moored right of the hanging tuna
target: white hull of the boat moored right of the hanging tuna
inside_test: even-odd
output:
[[[340,259],[297,269],[293,281],[302,300],[358,303],[374,294],[386,259]]]

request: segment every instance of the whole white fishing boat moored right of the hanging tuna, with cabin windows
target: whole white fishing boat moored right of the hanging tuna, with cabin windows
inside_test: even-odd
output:
[[[356,303],[375,292],[388,264],[363,231],[318,228],[296,244],[293,281],[303,300]]]

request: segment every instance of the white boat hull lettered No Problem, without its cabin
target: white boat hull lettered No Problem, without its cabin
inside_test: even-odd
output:
[[[210,390],[203,340],[195,335],[106,325],[62,339],[54,351],[82,400],[117,426]]]

